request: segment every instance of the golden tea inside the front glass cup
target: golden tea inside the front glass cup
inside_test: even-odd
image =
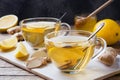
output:
[[[82,70],[94,53],[94,43],[87,38],[74,35],[53,37],[45,42],[48,55],[63,72]]]

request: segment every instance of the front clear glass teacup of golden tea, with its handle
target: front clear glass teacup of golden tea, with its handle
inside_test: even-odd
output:
[[[99,55],[106,48],[106,42],[102,38],[94,36],[87,40],[91,34],[83,30],[48,33],[45,36],[48,56],[62,72],[77,73],[84,70],[91,58]],[[95,53],[96,48],[98,51]]]

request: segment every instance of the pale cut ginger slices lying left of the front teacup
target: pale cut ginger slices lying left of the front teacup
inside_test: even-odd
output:
[[[31,55],[31,57],[26,62],[26,67],[29,69],[38,68],[45,66],[50,62],[51,59],[48,57],[46,49],[41,48]]]

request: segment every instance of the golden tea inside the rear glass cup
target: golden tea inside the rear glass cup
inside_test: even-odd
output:
[[[24,39],[34,48],[44,46],[44,35],[59,28],[55,22],[29,22],[22,26]]]

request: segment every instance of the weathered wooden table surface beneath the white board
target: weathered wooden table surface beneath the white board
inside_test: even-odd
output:
[[[3,36],[2,34],[0,34],[0,39],[3,39],[5,37],[8,36],[6,35]],[[44,80],[44,79],[0,59],[0,80]],[[104,80],[120,80],[120,74],[111,76]]]

